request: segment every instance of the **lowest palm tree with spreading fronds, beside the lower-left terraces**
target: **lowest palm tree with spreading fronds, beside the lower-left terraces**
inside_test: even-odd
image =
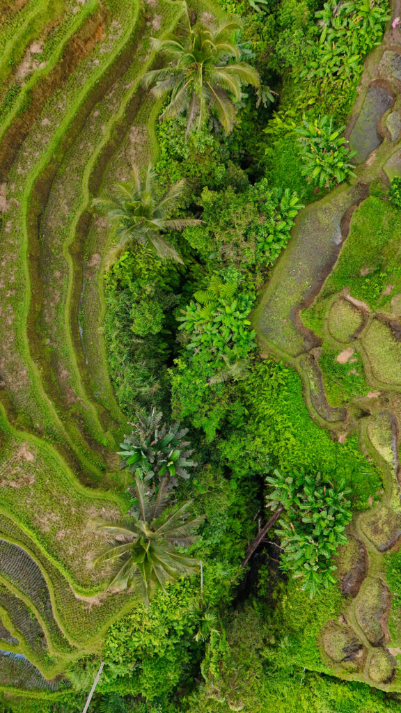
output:
[[[134,589],[148,606],[153,594],[181,575],[193,572],[198,565],[178,548],[186,548],[194,540],[194,530],[203,517],[188,519],[192,501],[184,503],[162,517],[168,505],[163,483],[156,497],[147,498],[142,481],[136,482],[137,511],[118,523],[94,523],[93,527],[106,535],[111,545],[95,560],[95,564],[116,565],[108,589]]]

